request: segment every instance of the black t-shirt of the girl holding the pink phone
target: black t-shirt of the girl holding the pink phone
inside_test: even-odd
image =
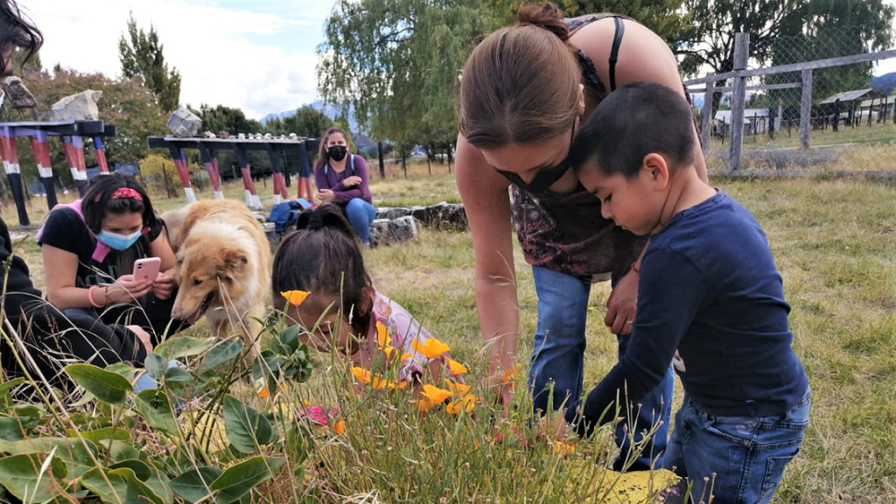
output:
[[[72,252],[78,256],[78,272],[74,286],[86,288],[109,284],[122,275],[131,273],[134,260],[149,257],[149,244],[159,237],[162,231],[161,220],[150,228],[137,243],[126,251],[109,251],[102,262],[93,260],[93,251],[97,241],[90,234],[90,229],[73,209],[56,209],[50,212],[44,224],[43,235],[38,243],[47,244]]]

